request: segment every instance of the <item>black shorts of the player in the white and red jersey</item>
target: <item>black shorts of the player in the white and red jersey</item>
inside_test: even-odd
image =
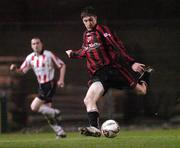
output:
[[[56,92],[56,81],[52,80],[39,84],[38,97],[46,103],[52,102],[52,97]]]

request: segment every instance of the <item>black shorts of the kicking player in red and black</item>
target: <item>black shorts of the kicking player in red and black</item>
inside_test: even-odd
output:
[[[112,66],[105,66],[96,71],[90,80],[90,84],[97,81],[102,83],[105,93],[109,88],[129,89],[134,88],[137,84],[137,80],[134,77],[134,85],[130,86],[127,79],[119,72],[119,70]]]

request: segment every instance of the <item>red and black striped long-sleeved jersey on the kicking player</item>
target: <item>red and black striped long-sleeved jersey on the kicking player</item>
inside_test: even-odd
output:
[[[134,62],[134,59],[126,53],[122,42],[103,25],[96,25],[92,31],[85,31],[82,48],[74,50],[70,57],[86,58],[90,74],[105,65],[116,66],[118,63],[121,66]]]

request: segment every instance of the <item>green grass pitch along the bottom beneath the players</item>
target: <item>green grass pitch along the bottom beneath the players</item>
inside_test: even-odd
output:
[[[68,133],[59,140],[53,133],[0,134],[0,148],[180,148],[180,129],[121,130],[115,138]]]

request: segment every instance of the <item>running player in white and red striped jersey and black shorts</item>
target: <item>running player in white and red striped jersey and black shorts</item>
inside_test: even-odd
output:
[[[59,125],[60,110],[52,108],[52,97],[56,86],[64,87],[66,65],[51,51],[43,49],[40,38],[32,38],[31,47],[33,52],[26,57],[22,65],[18,68],[12,64],[10,70],[25,74],[28,70],[33,69],[39,83],[39,90],[38,96],[31,103],[31,109],[45,116],[57,138],[64,138],[66,133]],[[58,81],[54,76],[55,66],[60,70]]]

